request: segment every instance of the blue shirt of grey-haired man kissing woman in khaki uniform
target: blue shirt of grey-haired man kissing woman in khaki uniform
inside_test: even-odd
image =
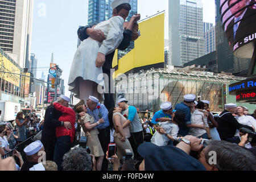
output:
[[[97,109],[97,107],[100,106],[100,109]],[[95,119],[95,122],[99,121],[101,118],[104,118],[104,123],[101,123],[100,125],[94,127],[94,129],[105,129],[109,126],[109,117],[108,117],[108,109],[106,109],[104,104],[97,104],[96,108],[91,111],[88,108],[88,114],[92,115]]]

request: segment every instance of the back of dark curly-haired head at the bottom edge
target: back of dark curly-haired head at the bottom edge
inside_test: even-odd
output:
[[[86,148],[75,147],[64,155],[62,166],[64,171],[96,171],[96,160]]]

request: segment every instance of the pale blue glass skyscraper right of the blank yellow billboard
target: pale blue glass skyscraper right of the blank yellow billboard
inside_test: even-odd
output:
[[[205,55],[201,0],[169,1],[169,39],[172,65],[183,66]]]

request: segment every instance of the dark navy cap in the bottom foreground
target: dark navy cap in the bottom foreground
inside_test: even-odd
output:
[[[205,171],[199,160],[173,146],[142,143],[138,152],[145,160],[146,171]]]

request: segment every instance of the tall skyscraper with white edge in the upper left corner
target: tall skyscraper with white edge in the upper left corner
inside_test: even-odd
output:
[[[0,47],[21,68],[30,65],[33,6],[34,0],[0,0]]]

